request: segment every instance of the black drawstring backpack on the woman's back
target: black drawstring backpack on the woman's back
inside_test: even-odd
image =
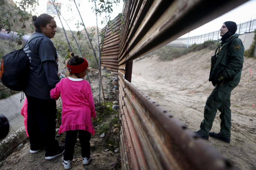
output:
[[[8,53],[2,58],[0,80],[3,85],[11,90],[22,91],[27,85],[27,79],[30,72],[30,62],[23,48],[31,40],[27,41],[21,49]]]

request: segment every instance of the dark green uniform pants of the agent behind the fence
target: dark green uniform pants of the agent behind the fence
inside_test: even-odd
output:
[[[204,135],[209,135],[217,110],[221,112],[221,134],[225,138],[230,138],[231,131],[231,110],[230,95],[235,87],[224,83],[216,86],[206,100],[204,119],[200,125],[200,131]]]

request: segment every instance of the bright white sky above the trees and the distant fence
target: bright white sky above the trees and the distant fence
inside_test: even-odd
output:
[[[16,0],[14,0],[16,1]],[[39,0],[39,6],[37,7],[37,16],[40,15],[41,13],[46,13],[46,2],[47,0]],[[78,12],[76,10],[76,7],[74,5],[73,1],[69,0],[56,0],[56,2],[61,2],[61,14],[64,16],[65,19],[70,20],[68,21],[69,26],[71,27],[72,30],[77,31],[77,30],[82,30],[83,28],[80,27],[77,29],[77,26],[75,23],[77,23],[77,20],[80,21],[80,17],[78,15]],[[78,0],[76,0],[78,3]],[[85,23],[86,27],[90,26],[95,26],[96,25],[96,17],[95,14],[93,13],[91,7],[94,5],[88,0],[81,0],[81,5],[79,8],[83,21]],[[71,6],[72,11],[68,9],[67,6]],[[193,31],[190,31],[189,36],[196,36],[196,35],[202,35],[205,33],[213,32],[213,31],[218,31],[221,28],[221,25],[225,21],[234,21],[237,24],[249,21],[251,19],[256,18],[256,0],[250,0],[246,3],[244,3],[241,6],[238,6],[237,8],[234,8],[233,10],[227,12],[226,14],[210,21],[209,23],[206,23],[202,25],[201,27],[194,29]],[[123,1],[120,0],[120,3],[116,6],[113,6],[113,12],[111,14],[111,19],[114,19],[119,13],[122,12],[123,9]],[[34,13],[35,14],[35,13]],[[98,26],[99,28],[105,27],[105,24],[101,24],[101,21],[103,20],[103,16],[99,17],[98,19]],[[56,23],[58,27],[61,27],[61,23],[58,19],[58,17],[55,18]],[[69,29],[66,24],[64,24],[65,29]],[[187,37],[188,33],[183,35],[182,37]]]

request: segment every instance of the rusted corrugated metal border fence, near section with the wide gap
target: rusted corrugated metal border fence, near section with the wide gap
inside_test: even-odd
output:
[[[133,60],[243,2],[125,1],[118,54],[122,169],[236,169],[130,82]]]

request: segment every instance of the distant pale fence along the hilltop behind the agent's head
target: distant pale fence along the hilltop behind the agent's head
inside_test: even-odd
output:
[[[248,32],[253,32],[255,29],[256,29],[256,19],[238,24],[236,33],[240,35]],[[168,45],[174,46],[174,47],[186,47],[187,44],[191,46],[193,44],[202,44],[205,41],[219,40],[219,39],[221,39],[220,31],[214,31],[214,32],[203,34],[203,35],[193,36],[193,37],[178,38],[174,41],[171,41]]]

